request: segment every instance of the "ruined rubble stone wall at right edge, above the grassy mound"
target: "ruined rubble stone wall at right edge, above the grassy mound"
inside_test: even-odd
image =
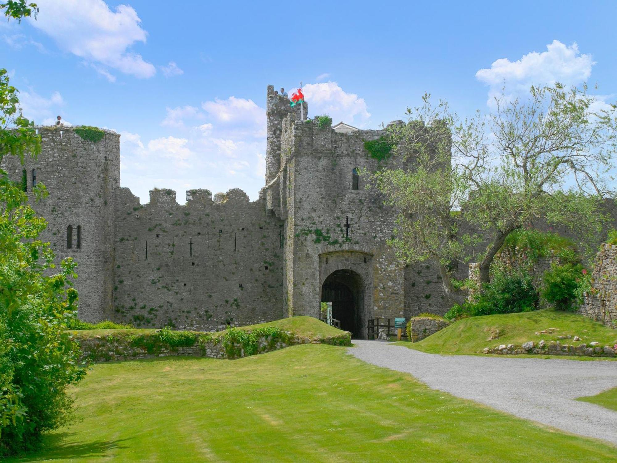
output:
[[[617,328],[617,245],[602,245],[592,278],[592,290],[586,293],[579,313]]]

